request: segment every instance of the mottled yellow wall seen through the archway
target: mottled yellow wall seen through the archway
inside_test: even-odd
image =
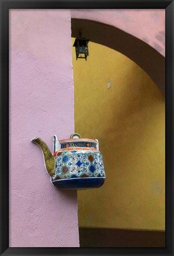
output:
[[[106,181],[78,191],[79,226],[165,230],[165,100],[132,60],[88,45],[87,61],[73,47],[75,132],[99,139]]]

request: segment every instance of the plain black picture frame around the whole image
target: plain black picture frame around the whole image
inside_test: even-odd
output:
[[[173,250],[173,1],[0,0],[1,3],[1,255],[174,255]],[[166,12],[166,247],[165,248],[9,248],[9,9],[165,9]]]

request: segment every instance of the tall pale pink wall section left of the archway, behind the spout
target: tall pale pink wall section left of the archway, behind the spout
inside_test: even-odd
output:
[[[9,247],[78,247],[77,192],[52,186],[31,142],[74,132],[70,11],[11,9],[9,25]]]

